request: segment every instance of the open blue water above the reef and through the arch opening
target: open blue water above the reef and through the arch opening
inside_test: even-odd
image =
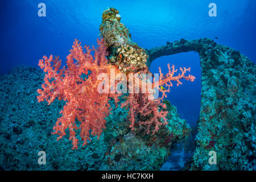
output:
[[[47,16],[38,16],[38,3],[46,3]],[[209,17],[208,5],[217,5],[217,17]],[[256,1],[1,1],[0,74],[14,65],[37,66],[43,55],[60,55],[65,60],[74,39],[96,45],[100,34],[102,11],[115,7],[121,22],[130,30],[139,46],[150,49],[181,38],[212,38],[256,60]],[[191,67],[195,82],[174,86],[168,99],[177,107],[181,118],[195,124],[200,110],[200,63],[196,53],[160,57],[151,72],[167,63]]]

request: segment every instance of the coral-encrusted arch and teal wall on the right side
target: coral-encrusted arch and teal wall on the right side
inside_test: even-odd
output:
[[[201,109],[191,169],[255,170],[255,64],[205,38],[149,49],[147,66],[160,56],[189,51],[199,53],[201,65]],[[209,164],[209,151],[216,151],[217,164]]]

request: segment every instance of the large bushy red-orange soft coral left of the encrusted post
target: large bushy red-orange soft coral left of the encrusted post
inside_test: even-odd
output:
[[[75,40],[71,53],[67,56],[67,67],[60,69],[59,57],[53,59],[44,56],[39,61],[39,66],[46,72],[42,89],[38,89],[38,101],[46,100],[51,104],[55,98],[67,101],[60,111],[62,117],[57,119],[53,127],[53,134],[58,134],[57,140],[63,138],[65,130],[69,129],[69,140],[72,140],[73,149],[79,143],[76,131],[80,129],[83,146],[90,140],[89,135],[97,135],[98,138],[105,129],[105,117],[110,114],[110,98],[118,101],[119,94],[99,93],[98,85],[101,80],[97,79],[100,73],[110,75],[110,69],[119,72],[113,65],[108,64],[104,40],[98,40],[98,48],[86,47],[83,52],[81,43]],[[94,51],[94,57],[91,55]],[[53,65],[52,65],[53,63]],[[115,80],[114,80],[115,81]],[[75,120],[80,122],[77,127]]]

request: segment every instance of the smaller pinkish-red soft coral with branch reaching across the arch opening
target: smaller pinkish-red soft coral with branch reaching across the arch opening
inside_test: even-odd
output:
[[[159,126],[166,125],[167,124],[167,118],[166,115],[168,114],[168,111],[163,111],[162,109],[166,109],[166,105],[163,104],[163,99],[167,97],[167,92],[170,92],[172,81],[177,82],[177,86],[179,86],[181,83],[181,79],[184,78],[188,81],[194,81],[195,77],[192,75],[185,76],[185,73],[187,71],[190,71],[190,68],[180,68],[181,74],[174,76],[174,73],[177,72],[177,69],[175,69],[174,65],[172,65],[172,68],[170,67],[170,64],[168,64],[168,73],[167,75],[163,76],[163,73],[161,71],[161,68],[159,67],[159,79],[152,82],[154,84],[153,90],[159,89],[162,93],[162,96],[159,98],[156,98],[155,100],[149,99],[152,97],[152,92],[150,90],[147,90],[146,93],[143,93],[143,82],[147,81],[142,77],[134,77],[134,82],[139,82],[139,86],[135,88],[134,90],[139,90],[139,93],[130,93],[127,101],[122,104],[122,107],[129,106],[129,118],[130,118],[130,127],[131,130],[134,130],[135,123],[137,122],[139,126],[146,126],[147,134],[154,135],[158,130]],[[138,74],[144,74],[150,73],[148,69],[143,69],[142,71],[139,71]],[[166,88],[163,88],[163,86],[166,86]],[[162,109],[161,109],[162,108]],[[137,115],[141,115],[144,119],[138,119]],[[138,120],[138,121],[137,121]]]

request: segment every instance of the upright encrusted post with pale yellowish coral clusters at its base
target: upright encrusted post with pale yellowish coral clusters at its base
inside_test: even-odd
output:
[[[131,40],[131,34],[128,28],[120,23],[121,16],[118,13],[117,9],[111,7],[102,14],[100,32],[106,41],[109,62],[117,65],[123,73],[147,68],[146,51]]]

